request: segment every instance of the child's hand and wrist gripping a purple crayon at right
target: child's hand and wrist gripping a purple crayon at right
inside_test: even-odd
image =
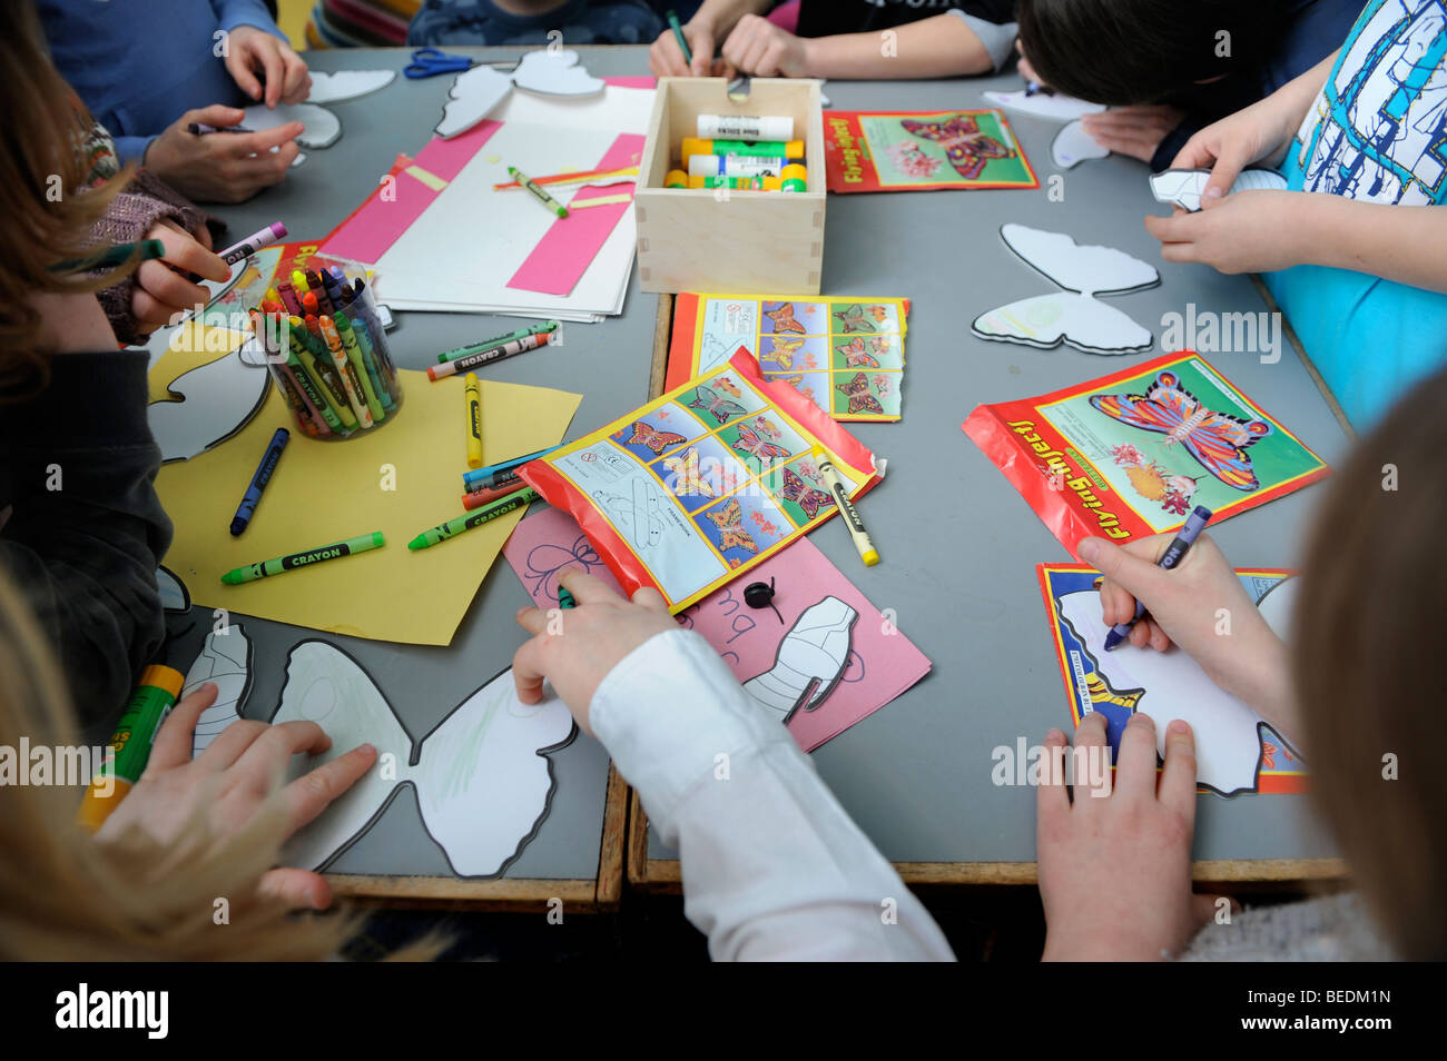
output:
[[[1172,538],[1155,535],[1124,548],[1103,538],[1081,542],[1081,559],[1106,575],[1101,620],[1130,622],[1139,598],[1146,614],[1130,630],[1132,645],[1158,652],[1178,645],[1211,681],[1257,713],[1289,717],[1285,643],[1210,535],[1197,538],[1174,570],[1158,567]]]

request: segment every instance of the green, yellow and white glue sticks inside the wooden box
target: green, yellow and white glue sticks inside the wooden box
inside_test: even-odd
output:
[[[697,133],[683,137],[683,168],[669,171],[664,188],[807,189],[805,142],[792,139],[792,117],[699,114]]]

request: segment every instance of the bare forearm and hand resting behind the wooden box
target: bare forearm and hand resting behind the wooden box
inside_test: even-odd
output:
[[[1003,40],[1009,55],[1010,40]],[[755,77],[943,78],[985,74],[1001,58],[958,13],[825,38],[799,38],[767,19],[747,16],[724,42],[724,61]]]

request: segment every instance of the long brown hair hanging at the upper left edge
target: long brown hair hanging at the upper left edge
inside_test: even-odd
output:
[[[130,173],[87,189],[90,159],[81,142],[91,120],[51,65],[30,0],[0,4],[0,396],[16,399],[49,377],[30,296],[98,291],[135,269],[51,272],[85,256],[91,227]]]

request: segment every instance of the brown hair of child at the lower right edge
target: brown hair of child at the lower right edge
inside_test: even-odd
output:
[[[1311,533],[1294,682],[1312,791],[1404,958],[1447,958],[1447,371],[1336,471]]]

